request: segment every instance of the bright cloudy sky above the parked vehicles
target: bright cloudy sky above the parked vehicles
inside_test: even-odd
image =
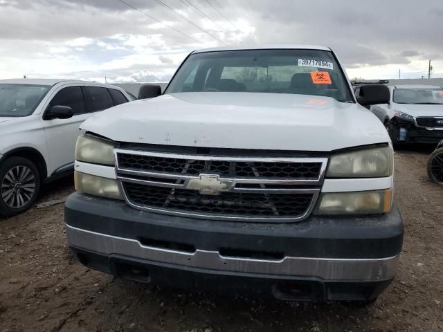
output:
[[[320,44],[350,77],[443,77],[442,0],[0,0],[0,79],[168,82],[224,44]]]

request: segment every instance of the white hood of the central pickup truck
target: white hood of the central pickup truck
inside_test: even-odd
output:
[[[172,93],[113,107],[81,128],[118,142],[235,149],[332,151],[390,141],[358,104],[280,93]]]

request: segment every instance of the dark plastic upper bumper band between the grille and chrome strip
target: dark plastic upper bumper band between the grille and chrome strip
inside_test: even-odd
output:
[[[386,258],[399,255],[403,222],[397,207],[379,216],[310,216],[298,223],[242,223],[143,212],[123,201],[74,193],[66,224],[125,239],[181,243],[200,250],[255,250],[291,257]]]

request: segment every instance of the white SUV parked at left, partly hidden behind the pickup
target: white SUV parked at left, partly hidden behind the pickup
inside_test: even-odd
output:
[[[80,123],[129,100],[95,82],[0,80],[0,216],[27,210],[42,183],[72,172]]]

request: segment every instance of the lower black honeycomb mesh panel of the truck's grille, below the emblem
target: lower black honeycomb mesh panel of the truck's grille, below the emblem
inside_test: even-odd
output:
[[[313,194],[224,192],[205,196],[193,190],[124,183],[129,201],[146,208],[242,217],[299,217],[307,212]]]

